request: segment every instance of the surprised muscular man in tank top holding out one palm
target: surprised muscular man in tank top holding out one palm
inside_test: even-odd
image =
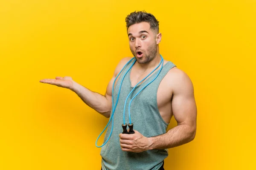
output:
[[[74,91],[84,103],[107,118],[114,114],[113,127],[110,124],[104,142],[109,136],[110,139],[101,150],[103,170],[164,170],[167,149],[195,138],[197,108],[193,85],[187,74],[172,62],[163,59],[162,68],[157,67],[162,59],[159,53],[162,34],[159,33],[159,22],[152,14],[135,11],[125,21],[135,63],[129,62],[133,57],[121,59],[105,96],[79,85],[71,77],[40,82]],[[114,113],[112,105],[116,105]],[[166,132],[172,116],[177,126]],[[135,133],[123,134],[121,125],[129,121],[134,124]]]

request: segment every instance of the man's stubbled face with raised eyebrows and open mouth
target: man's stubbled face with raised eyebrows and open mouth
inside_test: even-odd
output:
[[[157,33],[150,29],[147,22],[136,23],[128,28],[131,53],[137,62],[145,64],[157,56]]]

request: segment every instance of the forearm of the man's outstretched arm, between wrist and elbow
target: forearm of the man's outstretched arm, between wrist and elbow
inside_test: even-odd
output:
[[[93,108],[95,111],[105,117],[109,117],[111,108],[108,107],[108,100],[105,96],[90,91],[89,89],[76,82],[74,82],[70,90],[74,91],[90,108]]]

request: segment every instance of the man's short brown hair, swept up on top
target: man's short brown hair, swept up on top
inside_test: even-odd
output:
[[[157,31],[157,34],[159,33],[159,21],[153,14],[147,13],[146,11],[131,12],[131,14],[127,15],[125,18],[125,22],[127,31],[129,26],[133,24],[147,22],[150,24],[150,29]]]

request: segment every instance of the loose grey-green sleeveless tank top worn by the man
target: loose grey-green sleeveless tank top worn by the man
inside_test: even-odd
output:
[[[116,105],[116,99],[120,87],[120,82],[126,73],[134,59],[125,66],[122,73],[119,75],[119,79],[114,88],[114,106]],[[144,80],[140,85],[138,85],[134,91],[131,93],[127,99],[126,106],[125,100],[133,87],[131,87],[130,73],[131,69],[125,75],[122,82],[118,104],[116,105],[116,110],[114,112],[113,122],[113,132],[109,141],[102,147],[100,155],[102,156],[102,170],[158,170],[162,164],[163,160],[168,156],[168,149],[154,149],[146,150],[141,153],[133,153],[122,151],[119,142],[119,133],[122,133],[123,124],[123,111],[125,106],[125,123],[128,125],[129,113],[128,106],[131,99],[149,82],[151,82],[146,88],[144,88],[131,102],[130,113],[131,113],[131,123],[134,124],[134,130],[139,131],[145,137],[158,136],[166,133],[168,124],[164,122],[160,116],[157,107],[157,89],[167,72],[175,67],[172,62],[168,61],[158,75],[158,77],[153,80],[158,71],[149,75],[148,79]],[[159,68],[161,65],[159,66]],[[111,115],[113,108],[111,111]],[[127,126],[128,127],[128,126]],[[112,128],[112,122],[108,126],[108,130],[105,133],[104,142],[108,139]]]

